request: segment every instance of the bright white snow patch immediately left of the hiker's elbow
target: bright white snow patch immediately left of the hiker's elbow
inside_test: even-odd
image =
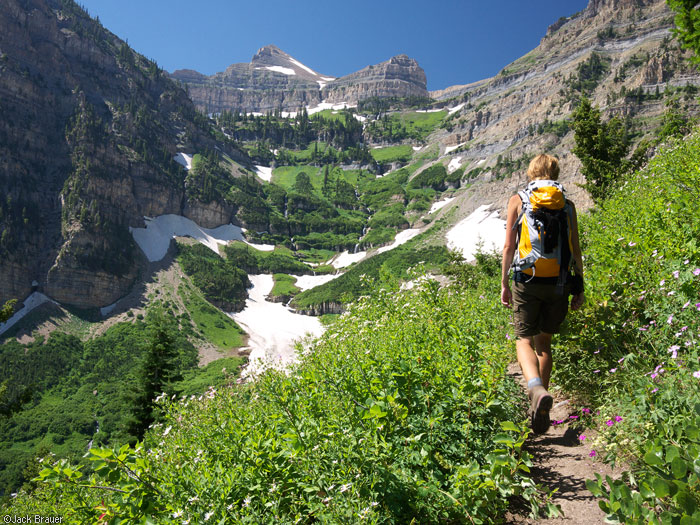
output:
[[[506,240],[506,221],[498,218],[491,204],[479,206],[474,213],[458,222],[447,232],[447,247],[459,250],[467,261],[474,260],[477,249],[486,252],[503,249]]]

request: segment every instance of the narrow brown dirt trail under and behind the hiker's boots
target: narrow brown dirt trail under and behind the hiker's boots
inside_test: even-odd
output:
[[[523,389],[526,388],[517,363],[509,366],[508,373],[520,382]],[[569,416],[574,414],[569,401],[557,393],[553,393],[553,396],[551,419],[568,421]],[[580,433],[580,428],[572,428],[572,425],[563,423],[552,426],[544,435],[531,434],[525,443],[525,448],[533,456],[532,478],[536,483],[551,490],[558,489],[553,497],[553,503],[561,507],[563,517],[532,520],[527,517],[527,509],[513,509],[506,516],[507,523],[514,525],[605,523],[605,513],[600,510],[596,498],[586,489],[586,480],[594,478],[596,472],[603,476],[606,474],[612,476],[613,472],[609,466],[589,457],[591,448],[585,444],[585,441],[590,441],[592,435],[588,431],[584,432],[588,438],[581,443]]]

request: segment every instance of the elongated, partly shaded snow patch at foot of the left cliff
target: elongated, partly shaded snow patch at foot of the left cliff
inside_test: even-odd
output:
[[[224,224],[217,228],[202,228],[193,220],[180,215],[161,215],[156,218],[144,217],[145,228],[129,228],[134,241],[143,250],[149,261],[160,261],[168,252],[173,237],[192,237],[215,253],[219,244],[229,241],[244,241],[243,228]]]

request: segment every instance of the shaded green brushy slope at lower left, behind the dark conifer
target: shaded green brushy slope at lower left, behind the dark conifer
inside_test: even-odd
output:
[[[177,323],[170,331],[179,371],[197,363],[197,351]],[[27,481],[41,451],[82,457],[95,446],[131,439],[133,392],[150,341],[146,323],[120,323],[87,342],[54,333],[46,341],[10,341],[0,353],[5,395],[0,414],[0,493]]]

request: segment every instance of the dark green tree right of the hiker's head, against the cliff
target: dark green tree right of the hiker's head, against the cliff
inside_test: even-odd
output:
[[[583,187],[594,201],[600,202],[629,169],[625,158],[629,149],[625,126],[616,117],[602,123],[600,110],[587,98],[581,101],[573,117],[576,146],[572,151],[581,161],[586,178]]]

